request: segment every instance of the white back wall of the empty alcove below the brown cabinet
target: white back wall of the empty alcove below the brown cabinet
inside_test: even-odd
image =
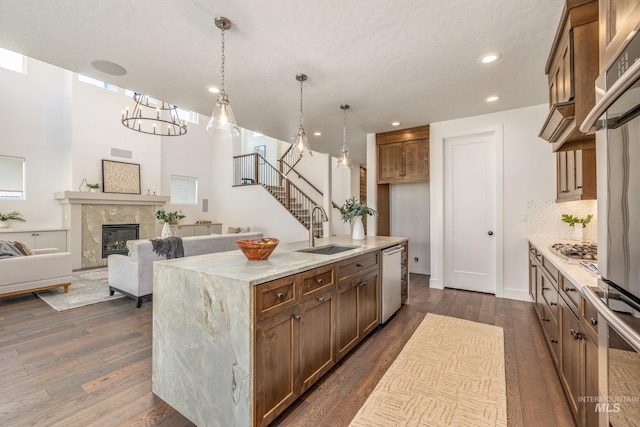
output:
[[[429,183],[392,184],[389,193],[391,235],[409,238],[409,272],[430,274]]]

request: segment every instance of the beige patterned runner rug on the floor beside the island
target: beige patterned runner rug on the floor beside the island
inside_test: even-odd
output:
[[[436,314],[427,314],[350,424],[506,425],[502,328]]]

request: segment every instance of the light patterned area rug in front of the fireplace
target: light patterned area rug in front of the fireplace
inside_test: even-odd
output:
[[[64,288],[56,288],[38,292],[37,295],[42,301],[58,311],[96,304],[124,296],[118,292],[113,296],[109,295],[106,267],[74,271],[69,292],[66,294],[64,293]]]

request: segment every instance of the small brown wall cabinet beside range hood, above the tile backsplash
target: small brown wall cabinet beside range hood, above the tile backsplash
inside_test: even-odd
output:
[[[596,150],[559,151],[557,161],[557,201],[595,200]]]

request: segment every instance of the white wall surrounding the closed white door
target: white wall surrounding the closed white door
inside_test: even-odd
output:
[[[444,272],[444,149],[446,137],[472,133],[487,127],[501,127],[504,141],[502,210],[503,296],[529,300],[527,268],[527,201],[555,198],[555,155],[551,146],[538,138],[548,113],[546,104],[458,120],[430,126],[431,167],[431,286],[446,287]],[[500,144],[498,144],[500,145]],[[499,215],[500,216],[500,215]],[[523,221],[525,220],[525,221]]]

